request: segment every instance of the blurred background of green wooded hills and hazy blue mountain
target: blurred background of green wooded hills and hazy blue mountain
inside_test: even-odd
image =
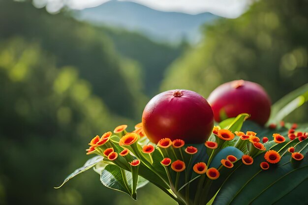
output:
[[[135,202],[92,170],[53,187],[89,158],[92,137],[132,130],[161,91],[207,97],[245,79],[274,103],[308,83],[307,0],[242,0],[233,16],[67,2],[0,0],[0,205],[172,205],[152,185]],[[307,114],[306,104],[286,120]]]

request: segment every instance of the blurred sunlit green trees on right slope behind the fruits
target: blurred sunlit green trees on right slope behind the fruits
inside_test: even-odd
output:
[[[204,27],[204,39],[168,68],[161,90],[191,89],[207,97],[224,82],[261,84],[272,101],[308,82],[308,3],[260,0],[237,19]],[[308,106],[294,112],[303,121]]]

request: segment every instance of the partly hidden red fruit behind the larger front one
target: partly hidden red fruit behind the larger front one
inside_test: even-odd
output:
[[[248,113],[248,118],[264,125],[271,114],[271,100],[266,91],[257,83],[237,80],[218,86],[208,98],[215,121],[220,122],[220,111],[227,117]]]

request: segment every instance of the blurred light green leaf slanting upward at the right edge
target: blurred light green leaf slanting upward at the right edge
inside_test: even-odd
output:
[[[308,84],[290,92],[272,106],[271,117],[268,122],[278,123],[292,111],[308,101]]]

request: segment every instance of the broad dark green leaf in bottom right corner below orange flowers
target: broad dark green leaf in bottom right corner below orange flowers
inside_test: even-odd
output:
[[[302,150],[303,153],[307,151],[307,143],[308,141],[305,140],[298,144],[299,147],[305,147]],[[291,154],[286,152],[277,165],[270,165],[270,169],[265,171],[260,168],[260,163],[265,161],[264,153],[255,157],[250,166],[238,161],[235,164],[240,163],[240,165],[226,179],[213,205],[275,203],[308,177],[307,156],[299,162],[297,167],[292,165],[290,158]]]

